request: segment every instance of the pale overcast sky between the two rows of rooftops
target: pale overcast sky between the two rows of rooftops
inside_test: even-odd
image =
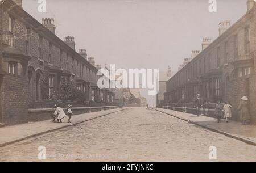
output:
[[[246,0],[217,0],[213,13],[208,7],[208,0],[47,0],[47,12],[38,12],[38,0],[23,0],[40,22],[54,18],[56,35],[74,36],[76,50],[85,48],[96,64],[160,71],[177,71],[203,37],[216,39],[218,23],[241,18]]]

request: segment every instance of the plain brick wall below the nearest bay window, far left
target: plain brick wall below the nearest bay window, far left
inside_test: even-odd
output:
[[[2,121],[5,124],[28,121],[28,79],[6,74],[2,82]]]

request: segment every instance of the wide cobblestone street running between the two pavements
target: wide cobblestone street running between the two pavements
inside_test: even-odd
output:
[[[76,116],[73,117],[75,119]],[[256,161],[256,147],[146,108],[129,108],[1,147],[1,161]]]

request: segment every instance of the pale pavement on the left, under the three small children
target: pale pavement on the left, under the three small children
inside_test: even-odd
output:
[[[123,109],[118,108],[73,115],[71,119],[72,125],[84,123],[85,121],[93,120],[122,110]],[[52,120],[29,122],[0,128],[0,147],[71,126],[71,124],[68,123],[68,117],[63,119],[63,123],[52,123],[51,121]]]

